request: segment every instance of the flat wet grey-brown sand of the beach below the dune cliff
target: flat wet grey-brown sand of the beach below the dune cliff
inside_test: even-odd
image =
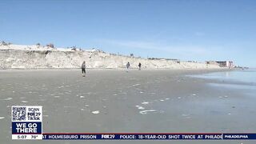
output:
[[[1,70],[0,143],[158,143],[12,141],[10,106],[43,106],[44,133],[254,133],[255,98],[186,77],[210,70]],[[254,143],[253,141],[160,141]]]

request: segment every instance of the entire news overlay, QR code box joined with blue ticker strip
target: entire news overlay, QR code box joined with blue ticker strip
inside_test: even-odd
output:
[[[12,138],[42,140],[256,140],[256,133],[42,133],[42,106],[12,106]]]

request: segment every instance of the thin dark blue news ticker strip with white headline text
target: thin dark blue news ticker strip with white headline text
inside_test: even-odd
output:
[[[85,133],[42,134],[45,140],[256,140],[256,134]]]

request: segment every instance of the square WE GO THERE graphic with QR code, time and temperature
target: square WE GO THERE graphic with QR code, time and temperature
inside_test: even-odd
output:
[[[12,106],[12,138],[42,139],[42,106]]]

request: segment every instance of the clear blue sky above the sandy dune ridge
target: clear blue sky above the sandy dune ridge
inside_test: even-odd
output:
[[[1,0],[0,40],[256,67],[256,1]]]

